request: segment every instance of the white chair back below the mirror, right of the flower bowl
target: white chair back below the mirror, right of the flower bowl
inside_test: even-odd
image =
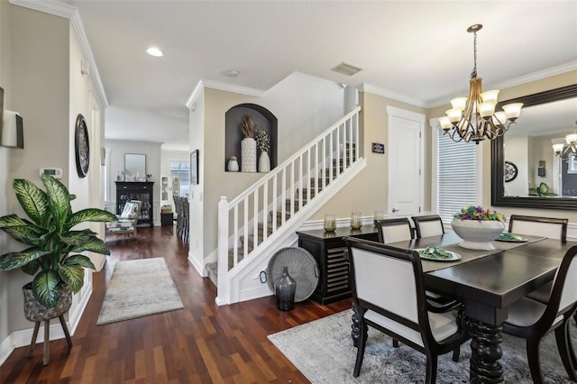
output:
[[[568,219],[555,217],[511,215],[508,221],[508,232],[545,236],[566,242],[568,222]]]

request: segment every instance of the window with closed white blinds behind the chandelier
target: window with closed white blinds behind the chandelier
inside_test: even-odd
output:
[[[435,131],[433,153],[436,153],[436,167],[433,169],[433,180],[434,184],[436,180],[436,199],[433,205],[436,203],[436,212],[443,222],[450,223],[453,215],[464,206],[480,204],[481,183],[478,178],[481,177],[481,169],[477,159],[481,159],[481,144],[453,142],[443,130]],[[435,185],[433,188],[435,190]]]

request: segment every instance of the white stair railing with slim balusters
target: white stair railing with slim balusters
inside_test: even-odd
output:
[[[359,160],[358,106],[230,202],[218,203],[218,290],[227,273]],[[332,177],[331,177],[332,175]],[[305,200],[306,199],[306,200]],[[272,210],[272,215],[270,215]],[[289,217],[289,218],[288,218]],[[261,230],[260,230],[261,229]],[[241,237],[243,238],[240,247]],[[229,252],[229,249],[232,251]]]

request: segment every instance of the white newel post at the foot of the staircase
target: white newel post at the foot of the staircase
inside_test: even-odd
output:
[[[222,306],[230,303],[228,281],[228,200],[225,196],[218,200],[218,279],[215,302]]]

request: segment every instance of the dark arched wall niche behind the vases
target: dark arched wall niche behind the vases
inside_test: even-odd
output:
[[[224,170],[227,170],[228,160],[232,156],[238,159],[239,169],[242,169],[241,159],[241,141],[244,136],[241,132],[241,122],[245,114],[252,115],[254,123],[256,123],[257,131],[264,130],[270,138],[270,169],[277,166],[277,137],[279,121],[277,117],[270,113],[270,111],[256,104],[239,104],[234,105],[231,109],[226,111],[224,116],[225,131],[224,131]],[[257,153],[257,157],[261,153]],[[258,161],[257,161],[258,162]]]

